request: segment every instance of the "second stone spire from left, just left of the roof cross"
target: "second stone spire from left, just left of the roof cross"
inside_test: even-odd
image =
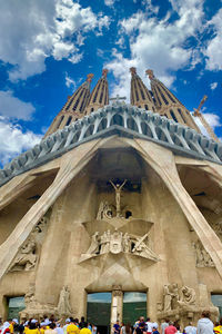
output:
[[[102,77],[98,80],[95,87],[90,95],[87,114],[98,110],[109,105],[109,87],[107,80],[108,69],[102,70]]]

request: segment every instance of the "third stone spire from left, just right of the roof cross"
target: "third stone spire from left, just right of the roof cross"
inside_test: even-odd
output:
[[[138,76],[135,67],[130,68],[131,72],[131,105],[147,110],[155,111],[155,106],[149,89],[143,84],[142,79]]]

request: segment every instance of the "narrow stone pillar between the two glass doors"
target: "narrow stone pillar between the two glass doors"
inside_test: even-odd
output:
[[[120,285],[114,285],[112,288],[112,303],[111,303],[111,328],[117,320],[122,322],[122,305],[123,305],[123,292]]]

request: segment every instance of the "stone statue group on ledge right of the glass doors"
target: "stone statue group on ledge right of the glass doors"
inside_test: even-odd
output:
[[[189,286],[180,289],[176,283],[163,287],[163,311],[169,312],[180,306],[195,305],[195,291]]]

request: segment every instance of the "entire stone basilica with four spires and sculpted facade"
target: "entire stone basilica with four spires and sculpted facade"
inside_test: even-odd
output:
[[[90,95],[89,75],[0,170],[3,318],[16,299],[21,317],[85,315],[101,333],[141,314],[219,316],[222,144],[151,71],[151,91],[131,73],[130,105],[109,104],[107,70]]]

